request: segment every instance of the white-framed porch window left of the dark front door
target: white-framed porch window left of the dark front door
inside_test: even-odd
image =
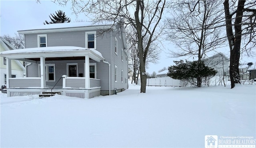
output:
[[[41,76],[41,68],[40,64],[38,64],[39,68],[39,77]],[[46,75],[46,82],[55,82],[55,64],[45,64],[45,75]]]

